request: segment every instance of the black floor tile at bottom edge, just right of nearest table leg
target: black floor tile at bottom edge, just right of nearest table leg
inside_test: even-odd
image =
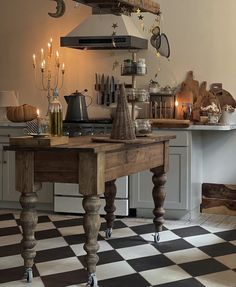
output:
[[[131,286],[148,287],[150,286],[150,284],[141,275],[137,273],[99,281],[99,287],[131,287]]]

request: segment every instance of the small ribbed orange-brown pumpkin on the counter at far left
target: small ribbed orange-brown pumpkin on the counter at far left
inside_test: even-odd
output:
[[[11,122],[28,122],[37,118],[37,109],[24,104],[17,107],[7,107],[7,118]]]

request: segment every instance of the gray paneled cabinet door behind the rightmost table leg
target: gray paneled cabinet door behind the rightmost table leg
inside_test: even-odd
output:
[[[165,184],[166,209],[188,209],[188,147],[171,147]],[[152,173],[144,171],[130,177],[131,208],[153,208]]]

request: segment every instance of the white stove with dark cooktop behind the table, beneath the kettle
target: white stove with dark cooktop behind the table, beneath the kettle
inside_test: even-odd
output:
[[[93,119],[79,122],[63,122],[64,135],[77,137],[83,135],[99,135],[111,132],[112,121],[108,119]],[[124,176],[116,180],[116,215],[129,215],[129,177]],[[54,211],[63,213],[83,214],[83,197],[79,193],[79,184],[54,183]],[[105,214],[105,199],[101,197],[100,214]]]

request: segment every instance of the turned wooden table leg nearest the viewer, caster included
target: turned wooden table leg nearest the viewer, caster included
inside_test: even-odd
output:
[[[85,261],[89,273],[88,284],[89,286],[94,287],[98,286],[95,272],[96,265],[99,260],[97,255],[97,251],[99,249],[97,237],[101,225],[99,215],[100,206],[101,201],[99,196],[84,196],[83,207],[85,210],[85,215],[83,226],[86,234],[84,250],[87,252]]]

